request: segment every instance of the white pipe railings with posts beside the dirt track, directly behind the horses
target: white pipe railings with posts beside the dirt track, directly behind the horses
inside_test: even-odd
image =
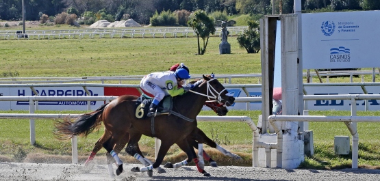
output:
[[[70,116],[70,117],[75,117],[77,115],[63,115],[63,114],[58,114],[58,115],[44,115],[44,114],[34,114],[34,101],[38,100],[104,100],[104,101],[110,101],[112,98],[116,98],[115,96],[103,96],[103,97],[98,97],[98,96],[87,96],[87,97],[52,97],[52,96],[29,96],[29,97],[0,97],[1,100],[29,100],[29,113],[30,114],[0,114],[0,119],[16,119],[16,118],[25,118],[25,119],[31,119],[30,122],[30,130],[31,130],[31,144],[35,143],[35,132],[34,132],[34,119],[62,119],[62,117]],[[94,98],[94,99],[92,99]],[[253,130],[254,133],[254,138],[253,138],[253,165],[256,166],[258,165],[258,148],[265,147],[267,144],[271,145],[271,148],[277,148],[282,146],[281,142],[281,135],[282,135],[282,130],[276,125],[276,121],[299,121],[299,122],[311,122],[311,121],[316,121],[316,122],[321,122],[321,121],[326,121],[326,122],[344,122],[349,128],[351,135],[353,135],[353,168],[357,168],[357,157],[358,157],[358,141],[359,137],[357,135],[357,125],[355,122],[380,122],[380,117],[357,117],[357,109],[356,109],[356,100],[368,100],[368,99],[380,99],[380,94],[372,94],[372,95],[363,95],[363,94],[347,94],[347,95],[322,95],[322,96],[303,96],[303,99],[305,101],[307,100],[322,100],[322,99],[328,99],[328,100],[341,100],[341,99],[349,99],[351,100],[351,117],[348,116],[338,116],[338,117],[333,117],[333,116],[307,116],[307,115],[301,115],[301,116],[290,116],[290,115],[270,115],[268,117],[268,120],[270,124],[275,128],[275,132],[277,133],[277,143],[263,143],[259,142],[258,139],[258,130],[255,124],[251,121],[249,117],[230,117],[230,116],[224,116],[224,117],[197,117],[197,120],[199,121],[204,121],[204,120],[210,120],[210,121],[242,121],[246,122],[249,124],[251,127],[251,130]],[[254,102],[254,101],[262,101],[262,98],[236,98],[235,102]],[[249,119],[248,119],[249,118]],[[354,122],[354,123],[352,123]],[[302,125],[301,130],[307,130],[308,126]],[[32,132],[34,133],[32,135]],[[32,138],[32,136],[34,138]],[[280,140],[280,141],[279,141]],[[281,143],[280,143],[281,142]],[[76,138],[72,140],[73,144],[73,156],[77,156],[77,142]],[[267,153],[266,153],[267,154]],[[277,157],[277,159],[282,158],[282,153],[280,153],[280,157]],[[269,167],[270,165],[270,152],[269,154],[266,155],[267,159],[267,166]],[[77,163],[77,157],[73,157],[73,163]]]

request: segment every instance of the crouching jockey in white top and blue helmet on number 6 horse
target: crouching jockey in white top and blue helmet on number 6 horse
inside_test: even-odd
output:
[[[190,79],[190,74],[186,68],[177,68],[175,72],[153,72],[144,76],[140,82],[141,89],[154,95],[154,100],[149,107],[148,116],[155,114],[158,107],[158,103],[166,95],[172,97],[182,95],[184,92],[188,92],[190,87],[183,87],[178,89],[178,85],[184,79]],[[158,114],[156,114],[158,115]]]

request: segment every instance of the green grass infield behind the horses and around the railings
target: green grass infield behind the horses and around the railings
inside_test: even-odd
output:
[[[205,55],[197,53],[196,38],[94,38],[64,40],[0,40],[0,77],[9,77],[14,72],[20,77],[80,77],[80,76],[125,76],[143,75],[149,72],[168,70],[173,64],[184,62],[190,74],[249,74],[261,72],[260,54],[247,54],[238,47],[236,37],[230,37],[231,54],[219,55],[220,38],[210,38]],[[316,80],[316,78],[314,78]],[[365,81],[370,81],[370,75]],[[379,78],[377,78],[379,79]],[[349,78],[330,79],[333,82],[348,82]],[[361,78],[354,78],[361,82]],[[257,83],[258,79],[233,79],[233,83]],[[316,82],[316,81],[314,81]],[[0,82],[1,83],[1,82]],[[18,111],[0,111],[17,113]],[[23,111],[27,113],[28,111]],[[44,111],[42,111],[44,112]],[[61,113],[61,111],[46,111]],[[228,115],[246,115],[257,123],[261,111],[230,111]],[[310,115],[349,115],[348,111],[310,111]],[[379,115],[378,111],[360,112],[358,115]],[[202,111],[201,115],[215,115]],[[52,120],[36,120],[36,145],[29,145],[28,120],[1,120],[0,155],[23,158],[30,153],[71,154],[70,141],[58,141],[52,135]],[[252,132],[243,122],[199,122],[206,135],[229,150],[243,156],[244,161],[234,165],[250,166]],[[359,167],[380,165],[379,124],[359,123]],[[306,158],[304,168],[351,167],[351,155],[333,154],[333,137],[350,135],[343,123],[310,122],[314,132],[315,155]],[[88,156],[103,130],[87,138],[79,138],[79,155]],[[153,139],[143,137],[142,150],[151,155]],[[101,150],[100,154],[104,154]],[[170,150],[170,154],[178,152]],[[216,154],[212,154],[215,156]],[[217,157],[223,165],[221,156]],[[0,158],[1,159],[1,158]],[[232,164],[228,161],[225,165]]]

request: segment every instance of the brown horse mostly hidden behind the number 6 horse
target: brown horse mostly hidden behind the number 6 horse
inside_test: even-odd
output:
[[[205,106],[210,107],[210,109],[212,109],[212,111],[214,111],[219,116],[227,115],[227,113],[228,113],[227,107],[223,106],[222,104],[220,104],[216,101],[206,102]],[[199,129],[199,128],[197,128],[197,129]],[[212,141],[212,139],[207,137],[207,135],[205,135],[202,130],[198,130],[198,133],[199,133],[199,135],[197,135],[197,136],[190,135],[187,138],[188,143],[190,145],[192,145],[194,148],[196,148],[197,150],[199,150],[199,143],[205,143],[207,145],[210,145],[212,148],[220,147],[214,141]],[[101,150],[103,143],[110,137],[111,137],[110,132],[105,130],[105,132],[103,133],[101,138],[97,141],[97,143],[95,143],[94,148],[92,149],[90,156],[88,156],[86,162],[84,163],[84,166],[86,167],[87,170],[91,169],[91,166],[92,166],[91,162],[94,159],[94,156],[97,154],[97,152],[99,152],[99,150]],[[195,140],[197,137],[201,138],[201,140]],[[116,143],[116,145],[114,145],[114,151],[116,153],[119,153],[124,148],[124,146],[127,144],[128,141],[129,141],[129,135],[127,135],[127,137],[125,137],[123,139],[120,139],[119,143]],[[224,148],[222,148],[222,149],[224,150]],[[225,154],[227,156],[231,156],[232,158],[236,158],[236,159],[240,158],[240,156],[233,154],[231,152],[228,152],[228,151],[220,151],[220,152],[222,152],[223,154]],[[217,165],[216,161],[214,161],[205,152],[205,150],[201,150],[201,154],[202,155],[199,158],[199,163],[196,163],[196,166],[197,166],[197,169],[200,173],[203,173],[204,176],[208,176],[210,174],[207,174],[207,172],[204,170],[204,167],[202,165],[203,158],[205,158],[205,160],[208,161],[210,163],[210,166],[212,166],[212,167],[218,167],[218,165]],[[108,153],[106,154],[106,156],[107,156],[107,164],[109,167],[110,177],[113,178],[114,173],[112,170],[112,161],[114,161],[114,158],[112,158],[112,156]],[[144,157],[142,154],[141,154],[141,156]],[[148,165],[145,165],[145,166],[148,166]],[[170,168],[170,167],[173,167],[173,164],[166,163],[166,165],[164,167]],[[138,169],[138,167],[134,167],[131,171],[140,171],[140,169]]]

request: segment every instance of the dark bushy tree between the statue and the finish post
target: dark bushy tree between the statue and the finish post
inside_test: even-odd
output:
[[[237,40],[240,48],[244,48],[247,53],[259,53],[260,51],[260,33],[259,23],[255,20],[249,20],[248,29],[244,30]]]

